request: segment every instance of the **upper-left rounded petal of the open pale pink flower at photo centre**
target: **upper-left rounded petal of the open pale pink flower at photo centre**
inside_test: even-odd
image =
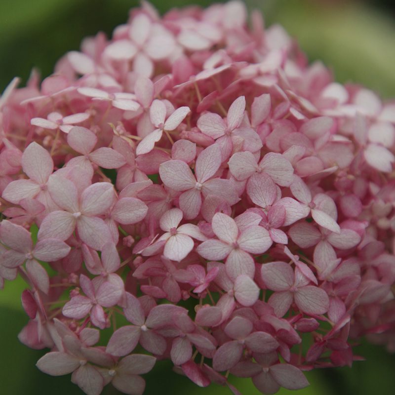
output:
[[[175,191],[187,191],[195,187],[196,179],[187,163],[182,160],[168,160],[159,166],[163,183]]]

